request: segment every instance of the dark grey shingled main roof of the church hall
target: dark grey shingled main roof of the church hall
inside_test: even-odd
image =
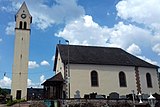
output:
[[[132,54],[129,54],[121,48],[62,44],[57,45],[55,65],[57,63],[58,51],[60,52],[62,62],[68,62],[68,49],[69,63],[71,64],[118,65],[159,68],[156,65],[150,64]]]

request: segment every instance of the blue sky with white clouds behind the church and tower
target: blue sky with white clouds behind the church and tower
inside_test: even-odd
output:
[[[24,0],[0,0],[0,87],[10,88],[14,15]],[[54,75],[55,46],[120,47],[160,66],[159,0],[25,0],[32,15],[28,87]],[[4,75],[5,74],[5,75]]]

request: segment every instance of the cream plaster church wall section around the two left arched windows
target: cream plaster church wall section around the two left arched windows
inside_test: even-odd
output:
[[[91,87],[90,72],[98,72],[99,87]],[[126,74],[127,87],[119,86],[119,72]],[[108,96],[111,92],[118,92],[120,95],[136,92],[136,81],[134,67],[125,66],[105,66],[105,65],[78,65],[70,64],[70,93],[71,98],[77,90],[83,98],[84,94],[97,92]]]

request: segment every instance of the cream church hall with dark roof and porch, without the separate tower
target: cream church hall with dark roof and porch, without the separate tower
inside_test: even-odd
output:
[[[42,85],[48,99],[159,93],[158,68],[121,48],[58,44],[55,75]]]

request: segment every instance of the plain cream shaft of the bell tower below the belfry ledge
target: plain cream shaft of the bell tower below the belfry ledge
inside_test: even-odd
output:
[[[27,97],[29,39],[29,30],[16,30],[11,88],[11,95],[13,95],[13,98],[16,97],[17,90],[22,91],[21,98],[26,99]]]

